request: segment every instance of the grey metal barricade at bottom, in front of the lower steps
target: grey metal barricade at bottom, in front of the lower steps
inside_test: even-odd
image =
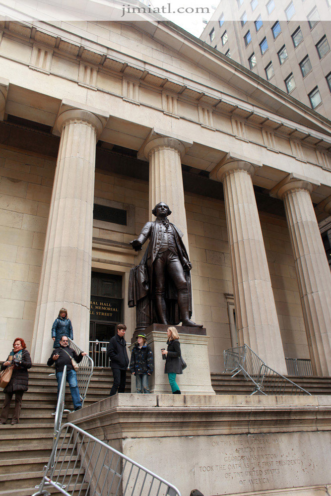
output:
[[[162,477],[71,423],[60,429],[32,496],[49,494],[50,487],[66,496],[75,491],[79,496],[181,496]]]

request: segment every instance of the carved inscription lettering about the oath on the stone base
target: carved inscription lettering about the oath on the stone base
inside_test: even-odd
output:
[[[282,477],[288,468],[303,468],[303,461],[293,449],[282,449],[284,439],[280,436],[240,436],[213,440],[212,452],[216,455],[209,465],[199,465],[198,473],[210,476],[219,475],[225,481],[234,481],[243,487],[256,487],[272,484]]]

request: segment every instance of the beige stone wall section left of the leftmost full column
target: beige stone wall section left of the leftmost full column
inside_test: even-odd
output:
[[[0,359],[31,349],[55,160],[0,145]]]

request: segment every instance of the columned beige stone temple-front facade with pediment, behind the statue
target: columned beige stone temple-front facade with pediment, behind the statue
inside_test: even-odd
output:
[[[45,363],[63,306],[87,349],[91,272],[120,280],[108,323],[124,320],[130,341],[141,255],[128,243],[163,200],[189,247],[211,371],[245,342],[279,372],[286,356],[329,375],[314,206],[330,214],[330,121],[171,23],[107,21],[115,2],[98,21],[23,3],[0,5],[0,358],[19,335]]]

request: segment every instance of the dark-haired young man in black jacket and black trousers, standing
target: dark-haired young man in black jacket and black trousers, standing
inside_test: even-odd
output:
[[[107,348],[107,357],[110,358],[110,366],[114,375],[113,387],[110,390],[110,396],[113,396],[119,390],[124,393],[127,379],[127,368],[129,366],[129,357],[127,352],[127,342],[124,339],[127,326],[119,324],[117,334],[109,341]]]

